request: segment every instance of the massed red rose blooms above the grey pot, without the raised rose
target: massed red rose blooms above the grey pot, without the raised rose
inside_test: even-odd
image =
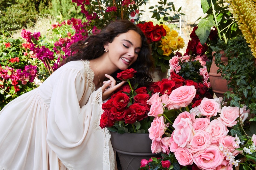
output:
[[[102,129],[113,126],[116,121],[134,123],[148,116],[150,106],[147,105],[147,100],[150,96],[146,87],[140,87],[135,91],[137,95],[133,98],[133,104],[130,100],[130,92],[129,85],[124,85],[106,103],[102,104],[104,110],[100,118]]]

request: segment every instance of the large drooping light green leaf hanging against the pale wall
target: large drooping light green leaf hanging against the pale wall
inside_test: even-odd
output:
[[[210,35],[211,27],[214,25],[213,16],[210,15],[207,19],[203,18],[198,23],[198,28],[196,29],[196,35],[198,36],[201,44],[204,44]]]

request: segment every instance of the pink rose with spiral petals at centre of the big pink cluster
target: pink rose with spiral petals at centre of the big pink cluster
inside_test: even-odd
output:
[[[191,152],[195,153],[198,151],[202,151],[212,143],[211,135],[204,130],[197,130],[196,134],[193,136],[191,142]]]

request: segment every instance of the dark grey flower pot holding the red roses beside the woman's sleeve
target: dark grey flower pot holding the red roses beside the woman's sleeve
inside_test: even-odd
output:
[[[111,144],[118,154],[122,170],[138,170],[141,159],[161,157],[161,153],[151,153],[151,139],[148,133],[110,133]]]

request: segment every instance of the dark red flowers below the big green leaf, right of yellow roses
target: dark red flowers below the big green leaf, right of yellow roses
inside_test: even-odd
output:
[[[204,43],[204,45],[200,43],[200,40],[195,33],[197,28],[198,26],[195,26],[193,28],[193,31],[189,35],[191,40],[188,41],[188,48],[186,49],[186,53],[184,55],[189,55],[190,51],[192,51],[191,55],[203,55],[208,49],[208,45],[206,43]],[[217,29],[215,28],[210,32],[210,35],[209,35],[210,40],[213,40],[214,38],[216,38],[216,35],[217,35]]]

